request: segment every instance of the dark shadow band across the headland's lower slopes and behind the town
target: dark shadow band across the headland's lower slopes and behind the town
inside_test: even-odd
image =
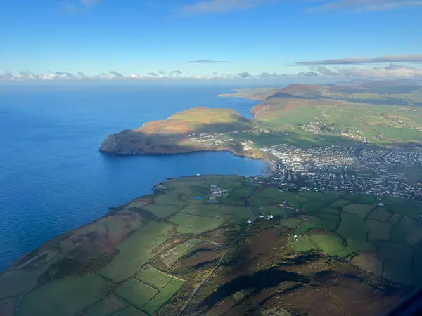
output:
[[[362,147],[370,149],[385,149],[381,145],[372,145],[361,143],[352,138],[341,136],[321,134],[315,135],[306,133],[298,133],[288,131],[288,133],[241,133],[246,129],[265,129],[259,121],[245,119],[241,124],[235,123],[216,123],[207,124],[206,126],[198,126],[195,131],[186,133],[144,133],[143,131],[123,130],[120,133],[108,136],[100,147],[100,151],[108,154],[181,154],[186,152],[198,151],[223,151],[228,150],[237,154],[251,156],[249,150],[243,150],[240,142],[251,140],[259,147],[269,147],[282,143],[290,143],[300,148],[322,147],[330,145],[338,145],[343,147]],[[238,133],[236,133],[238,132]],[[187,136],[191,138],[203,137],[200,134],[221,134],[220,137],[228,141],[222,143],[213,143],[212,141],[186,142]],[[417,143],[397,142],[396,146],[404,148],[418,147]],[[419,145],[420,147],[420,145]]]

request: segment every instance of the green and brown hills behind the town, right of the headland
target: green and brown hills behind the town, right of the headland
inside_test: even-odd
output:
[[[422,140],[421,100],[420,86],[395,81],[354,86],[293,84],[252,112],[260,124],[300,137],[340,136],[373,145],[397,145]]]

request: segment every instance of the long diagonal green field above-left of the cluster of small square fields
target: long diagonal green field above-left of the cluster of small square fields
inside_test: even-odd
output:
[[[170,237],[168,233],[172,228],[173,225],[170,223],[151,221],[136,230],[117,246],[119,254],[99,271],[100,274],[114,282],[132,277],[152,258],[151,251]]]

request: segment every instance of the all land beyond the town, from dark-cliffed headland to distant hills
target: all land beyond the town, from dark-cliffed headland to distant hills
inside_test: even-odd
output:
[[[422,88],[414,84],[293,84],[280,89],[243,89],[232,96],[262,100],[251,110],[254,119],[230,109],[194,107],[139,129],[110,135],[100,151],[176,154],[230,150],[264,157],[262,148],[280,143],[303,149],[327,145],[421,147]]]

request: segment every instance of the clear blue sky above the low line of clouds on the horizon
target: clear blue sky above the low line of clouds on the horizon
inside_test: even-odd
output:
[[[0,73],[297,74],[316,72],[291,66],[306,60],[422,61],[416,0],[3,0],[0,12]]]

